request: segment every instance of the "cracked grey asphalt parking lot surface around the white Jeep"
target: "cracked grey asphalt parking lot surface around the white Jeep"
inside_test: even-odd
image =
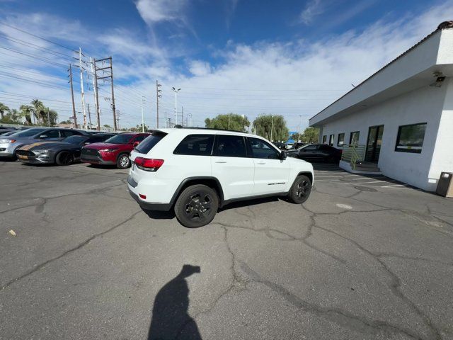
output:
[[[0,339],[453,339],[453,200],[315,167],[186,229],[127,171],[0,162]]]

